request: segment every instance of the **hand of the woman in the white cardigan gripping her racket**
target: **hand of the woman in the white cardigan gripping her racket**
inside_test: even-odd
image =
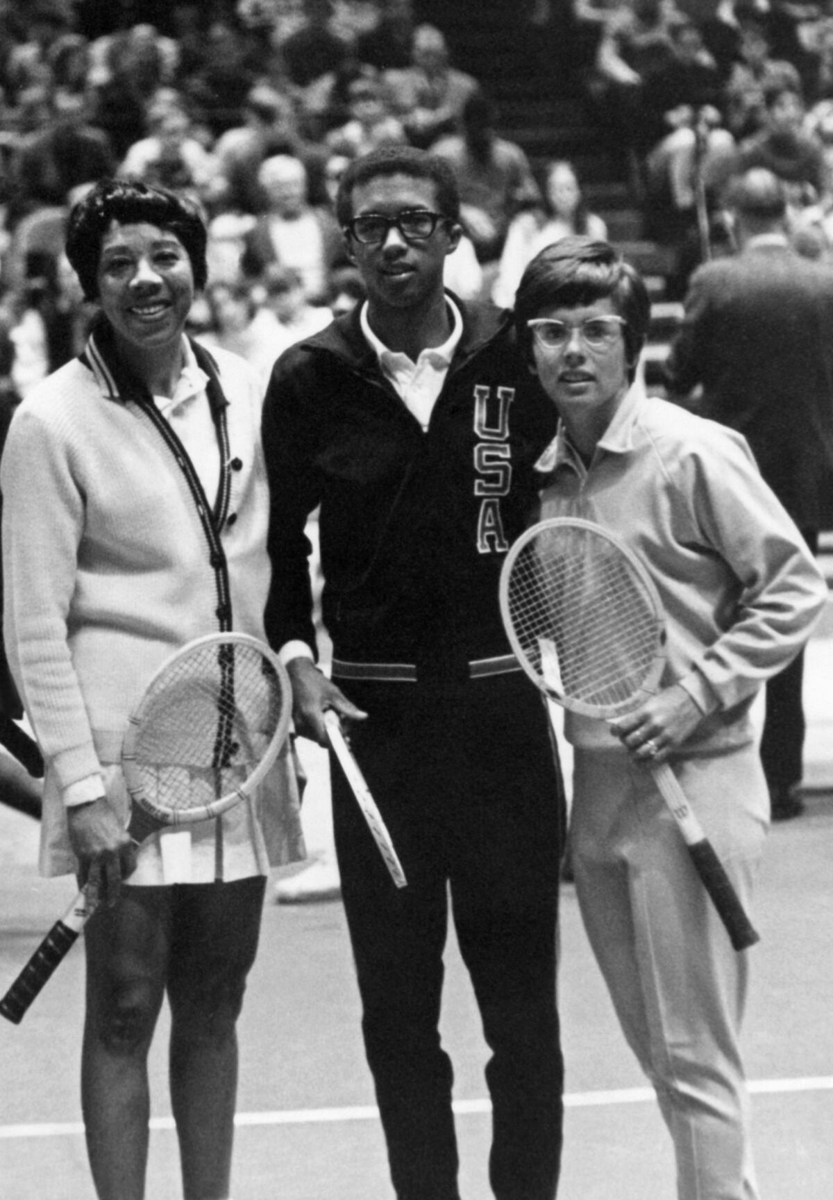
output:
[[[91,907],[114,904],[121,881],[136,868],[136,844],[103,796],[70,806],[66,815],[78,882],[86,888]]]

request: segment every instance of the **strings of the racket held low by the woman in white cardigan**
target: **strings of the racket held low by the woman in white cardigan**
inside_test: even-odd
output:
[[[175,660],[145,698],[136,737],[148,803],[185,812],[239,791],[263,760],[286,702],[257,647],[206,644]]]

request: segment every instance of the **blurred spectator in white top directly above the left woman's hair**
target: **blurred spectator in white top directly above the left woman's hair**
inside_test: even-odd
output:
[[[194,137],[185,97],[173,88],[156,92],[146,116],[148,136],[134,142],[119,168],[122,179],[151,186],[203,193],[217,174],[217,163]]]

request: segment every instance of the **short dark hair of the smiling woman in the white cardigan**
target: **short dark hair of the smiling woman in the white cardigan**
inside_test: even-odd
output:
[[[176,234],[191,259],[194,287],[199,290],[205,287],[208,230],[197,202],[132,179],[104,179],[72,206],[67,223],[66,257],[85,300],[98,299],[101,244],[114,221],[146,222]]]

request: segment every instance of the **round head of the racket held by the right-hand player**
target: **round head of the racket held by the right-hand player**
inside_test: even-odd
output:
[[[564,708],[610,720],[657,690],[665,668],[657,588],[601,526],[580,517],[531,526],[504,559],[499,604],[519,662]]]

